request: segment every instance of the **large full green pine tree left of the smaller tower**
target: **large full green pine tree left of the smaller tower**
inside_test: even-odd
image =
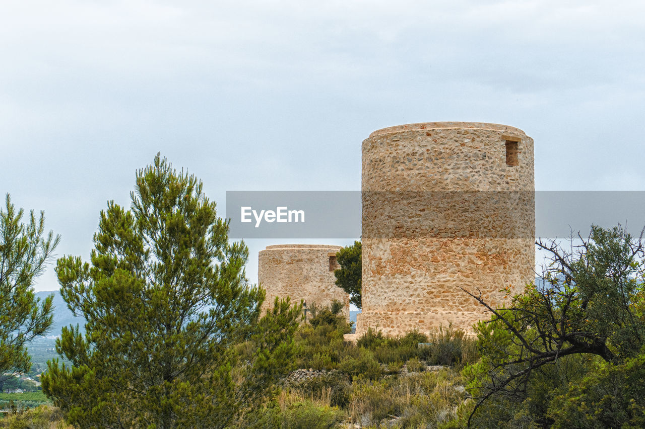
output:
[[[244,274],[248,250],[202,183],[159,155],[136,175],[130,211],[108,202],[91,263],[57,262],[61,295],[86,319],[63,328],[43,390],[80,427],[232,426],[289,370],[301,309]]]

